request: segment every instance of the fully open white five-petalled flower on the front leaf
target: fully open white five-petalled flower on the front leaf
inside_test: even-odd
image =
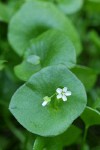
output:
[[[57,92],[57,99],[62,98],[63,101],[67,101],[67,96],[71,96],[71,91],[68,91],[67,87],[64,87],[63,89],[58,88],[56,92]]]

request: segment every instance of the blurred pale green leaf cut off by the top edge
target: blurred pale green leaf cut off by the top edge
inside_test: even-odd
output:
[[[73,14],[81,9],[83,0],[57,0],[57,5],[65,14]]]

